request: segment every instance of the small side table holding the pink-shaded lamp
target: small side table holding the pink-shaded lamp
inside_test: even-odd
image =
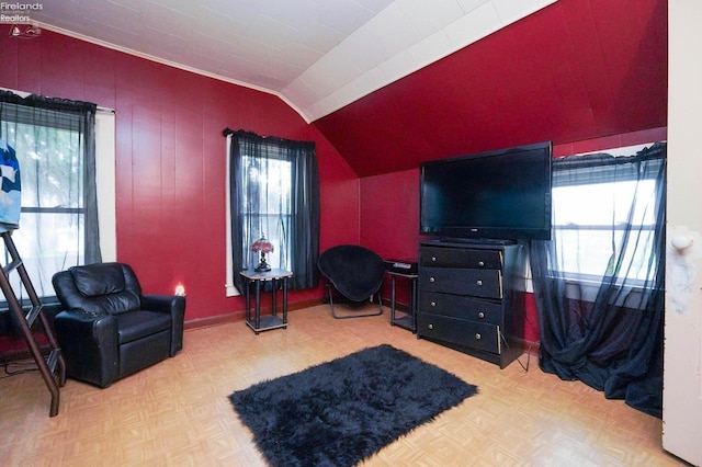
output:
[[[246,323],[258,335],[261,331],[271,329],[287,328],[287,278],[293,275],[291,271],[271,270],[267,272],[241,271],[241,276],[246,281]],[[271,315],[261,317],[261,286],[271,281]],[[283,315],[278,316],[276,309],[276,284],[282,283],[283,288]],[[256,287],[253,317],[251,317],[251,284]]]

